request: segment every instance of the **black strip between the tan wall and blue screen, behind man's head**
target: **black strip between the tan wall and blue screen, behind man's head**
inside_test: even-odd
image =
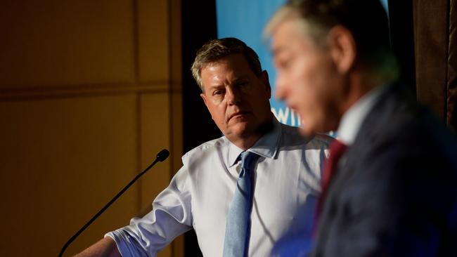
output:
[[[215,0],[181,1],[183,51],[184,152],[221,136],[200,98],[200,88],[191,75],[195,52],[206,41],[217,37]],[[203,256],[193,230],[184,235],[184,256]]]

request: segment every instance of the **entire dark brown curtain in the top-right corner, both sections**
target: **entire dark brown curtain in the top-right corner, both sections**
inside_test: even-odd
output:
[[[454,132],[457,129],[456,0],[413,1],[416,92]]]

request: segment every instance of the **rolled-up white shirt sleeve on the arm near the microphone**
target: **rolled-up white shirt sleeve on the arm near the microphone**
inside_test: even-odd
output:
[[[183,167],[172,182],[155,198],[153,210],[130,225],[108,232],[122,256],[156,256],[169,242],[191,230],[191,193],[188,171]]]

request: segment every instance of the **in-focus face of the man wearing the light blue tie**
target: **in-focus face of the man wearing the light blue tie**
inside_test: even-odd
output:
[[[257,77],[241,54],[228,55],[201,70],[201,97],[224,135],[237,143],[258,138],[271,124],[268,74]]]

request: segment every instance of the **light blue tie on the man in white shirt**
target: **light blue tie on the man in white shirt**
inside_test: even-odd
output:
[[[242,169],[227,213],[224,257],[247,256],[253,195],[252,169],[258,157],[253,152],[241,153]]]

